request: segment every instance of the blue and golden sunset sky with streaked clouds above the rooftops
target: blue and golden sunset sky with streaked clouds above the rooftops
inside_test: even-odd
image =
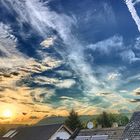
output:
[[[0,122],[72,108],[138,111],[139,8],[140,0],[1,0]]]

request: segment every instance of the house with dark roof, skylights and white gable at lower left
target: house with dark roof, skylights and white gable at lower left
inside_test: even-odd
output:
[[[72,132],[62,124],[20,127],[9,130],[3,138],[11,140],[67,140]]]

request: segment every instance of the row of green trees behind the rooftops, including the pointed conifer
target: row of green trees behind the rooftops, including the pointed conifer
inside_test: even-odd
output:
[[[99,125],[102,128],[108,128],[112,127],[113,123],[117,123],[118,126],[125,126],[129,122],[129,118],[122,114],[103,112],[102,114],[99,114],[88,121],[93,122],[94,128],[97,128]],[[72,131],[74,131],[76,128],[86,128],[87,122],[81,122],[78,113],[75,112],[74,109],[72,109],[69,113],[69,116],[65,120],[65,125],[69,127]]]

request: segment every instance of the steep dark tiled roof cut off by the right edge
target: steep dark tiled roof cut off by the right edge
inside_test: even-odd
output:
[[[123,132],[123,140],[140,140],[140,112],[135,112]]]

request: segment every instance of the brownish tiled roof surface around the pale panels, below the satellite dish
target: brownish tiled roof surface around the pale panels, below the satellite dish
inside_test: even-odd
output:
[[[108,135],[109,140],[120,140],[122,138],[124,127],[83,129],[77,136]]]

